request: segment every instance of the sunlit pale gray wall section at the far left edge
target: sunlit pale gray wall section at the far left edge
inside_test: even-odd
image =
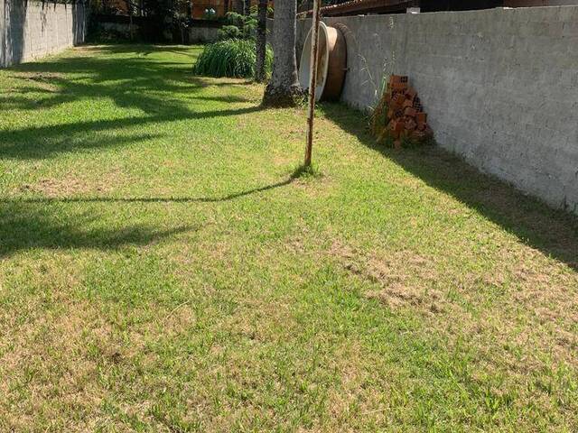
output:
[[[83,42],[88,15],[84,2],[0,0],[0,68]]]

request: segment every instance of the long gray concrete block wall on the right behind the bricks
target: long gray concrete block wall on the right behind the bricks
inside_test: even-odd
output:
[[[408,75],[440,145],[578,213],[578,6],[325,21],[344,26],[342,100],[367,109],[383,77]]]

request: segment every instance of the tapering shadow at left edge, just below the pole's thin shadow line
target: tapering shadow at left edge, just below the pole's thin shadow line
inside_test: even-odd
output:
[[[55,207],[4,202],[0,207],[0,259],[32,248],[115,250],[198,229],[178,226],[159,230],[146,225],[90,227],[97,219],[78,214],[66,216],[61,207],[56,211]]]

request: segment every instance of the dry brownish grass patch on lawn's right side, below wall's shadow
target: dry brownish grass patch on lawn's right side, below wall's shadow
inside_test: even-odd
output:
[[[439,271],[445,259],[409,250],[368,254],[334,242],[328,253],[344,270],[372,283],[362,296],[394,311],[421,312],[431,330],[450,340],[479,341],[489,364],[527,373],[544,367],[536,354],[548,353],[554,365],[578,366],[578,278],[534,248],[506,242],[499,252],[504,257],[493,267],[460,279],[452,278],[453,269]]]

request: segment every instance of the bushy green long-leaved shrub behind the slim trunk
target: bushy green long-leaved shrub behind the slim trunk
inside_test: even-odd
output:
[[[267,46],[266,73],[271,72],[273,51]],[[255,77],[255,41],[230,39],[205,45],[192,67],[196,75],[209,77]]]

